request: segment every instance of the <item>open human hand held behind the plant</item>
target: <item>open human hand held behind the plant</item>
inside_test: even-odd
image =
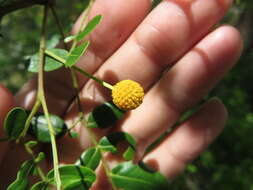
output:
[[[176,127],[152,152],[145,148],[169,129],[180,115],[196,105],[234,66],[242,50],[239,32],[231,26],[213,26],[224,16],[230,0],[167,0],[150,12],[150,0],[97,0],[90,18],[103,15],[103,21],[91,34],[88,52],[78,63],[86,71],[112,84],[123,79],[138,81],[145,89],[143,104],[111,131],[125,131],[137,141],[138,159],[156,168],[168,178],[179,175],[222,131],[227,111],[212,98],[187,121]],[[113,5],[113,6],[112,6]],[[73,27],[76,33],[80,19]],[[62,115],[71,125],[78,110],[67,71],[46,74],[46,94],[52,113]],[[80,99],[85,113],[110,100],[110,91],[78,75]],[[14,104],[31,108],[36,95],[36,77],[16,95],[16,102],[1,86],[0,121]],[[159,110],[159,111],[157,111]],[[91,145],[85,128],[75,129],[78,139],[58,141],[60,162],[73,163]],[[1,136],[3,136],[3,131]],[[110,132],[111,132],[110,131]],[[95,130],[97,136],[108,130]],[[9,149],[8,149],[9,146]],[[8,151],[6,151],[8,149]],[[42,151],[50,153],[47,146]],[[9,184],[20,163],[27,158],[21,147],[0,144],[1,184]],[[107,156],[114,163],[115,158]],[[49,158],[43,164],[52,167]],[[92,190],[111,189],[101,169]]]

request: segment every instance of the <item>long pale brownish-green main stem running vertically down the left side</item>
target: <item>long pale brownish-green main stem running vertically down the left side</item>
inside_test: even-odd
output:
[[[43,12],[43,24],[42,24],[42,32],[41,32],[41,39],[40,39],[40,65],[39,65],[39,76],[38,76],[38,94],[37,99],[40,100],[44,114],[47,119],[48,129],[51,138],[51,146],[53,152],[53,164],[54,164],[54,178],[56,182],[57,190],[61,190],[61,178],[59,173],[59,163],[58,163],[58,154],[57,154],[57,147],[55,141],[55,134],[52,127],[52,123],[49,117],[49,112],[47,109],[45,93],[44,93],[44,64],[45,64],[45,47],[46,47],[46,22],[47,22],[47,14],[48,13],[48,5],[44,6]]]

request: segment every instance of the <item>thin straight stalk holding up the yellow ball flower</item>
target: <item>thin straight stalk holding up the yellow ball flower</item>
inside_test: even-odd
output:
[[[66,60],[65,60],[65,59],[59,57],[58,55],[52,53],[51,51],[46,50],[45,53],[46,53],[47,55],[49,55],[50,57],[54,58],[55,60],[60,61],[60,62],[63,63],[63,64],[66,63]],[[73,68],[74,70],[80,72],[80,73],[83,74],[84,76],[93,79],[94,81],[98,82],[98,83],[101,84],[102,86],[104,86],[104,87],[106,87],[106,88],[109,88],[110,90],[113,89],[113,86],[112,86],[111,84],[109,84],[109,83],[107,83],[107,82],[105,82],[105,81],[103,81],[103,80],[100,80],[100,79],[96,78],[95,76],[93,76],[92,74],[86,72],[85,70],[83,70],[83,69],[81,69],[81,68],[79,68],[79,67],[77,67],[77,66],[75,66],[75,65],[72,66],[71,68]]]

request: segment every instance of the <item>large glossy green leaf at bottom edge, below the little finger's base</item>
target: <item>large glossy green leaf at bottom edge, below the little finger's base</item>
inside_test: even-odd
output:
[[[132,162],[123,162],[112,169],[114,185],[123,190],[168,190],[167,179],[159,172],[148,172]]]

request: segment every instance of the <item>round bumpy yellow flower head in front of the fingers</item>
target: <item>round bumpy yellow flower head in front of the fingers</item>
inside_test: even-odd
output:
[[[144,90],[141,85],[132,80],[122,80],[113,86],[112,101],[122,110],[132,110],[141,105]]]

